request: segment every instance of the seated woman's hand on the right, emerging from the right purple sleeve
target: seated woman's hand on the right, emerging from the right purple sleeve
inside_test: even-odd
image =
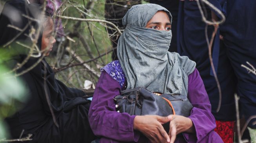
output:
[[[171,119],[169,130],[171,143],[174,143],[176,134],[180,134],[181,132],[195,132],[194,124],[191,119],[180,115],[169,115],[168,118]]]

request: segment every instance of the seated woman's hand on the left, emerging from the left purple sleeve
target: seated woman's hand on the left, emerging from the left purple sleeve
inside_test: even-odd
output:
[[[170,138],[167,132],[163,129],[162,124],[170,122],[170,120],[171,116],[136,116],[133,122],[133,129],[142,132],[151,143],[169,143]]]

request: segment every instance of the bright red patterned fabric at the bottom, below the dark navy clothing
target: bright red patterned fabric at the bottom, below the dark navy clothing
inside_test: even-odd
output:
[[[216,121],[216,128],[214,129],[224,143],[233,143],[234,141],[234,121]]]

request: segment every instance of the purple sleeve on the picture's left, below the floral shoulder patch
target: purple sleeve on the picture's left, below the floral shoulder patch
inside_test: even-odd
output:
[[[102,142],[138,141],[140,134],[133,131],[135,116],[118,113],[113,97],[120,95],[120,84],[102,71],[96,85],[89,110],[89,122],[93,133]]]

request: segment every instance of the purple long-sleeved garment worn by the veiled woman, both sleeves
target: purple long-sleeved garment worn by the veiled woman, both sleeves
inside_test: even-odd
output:
[[[198,70],[195,69],[188,78],[187,97],[193,105],[188,118],[194,123],[196,134],[183,132],[175,143],[222,143],[220,136],[214,132],[215,119]],[[140,136],[140,132],[133,130],[135,116],[116,112],[113,97],[120,95],[122,90],[120,82],[103,70],[89,110],[91,129],[101,138],[100,143],[149,142],[145,136]]]

